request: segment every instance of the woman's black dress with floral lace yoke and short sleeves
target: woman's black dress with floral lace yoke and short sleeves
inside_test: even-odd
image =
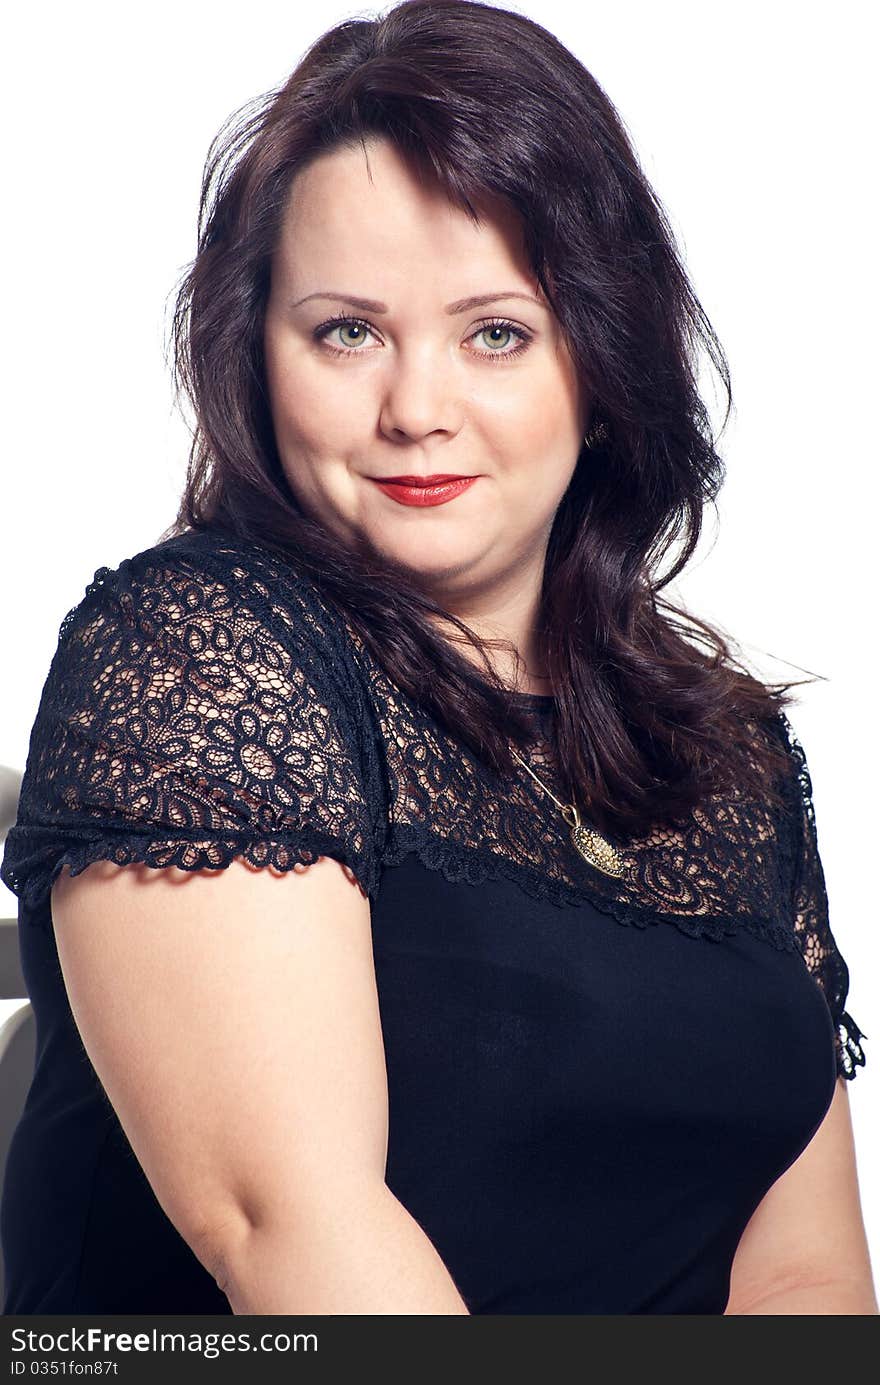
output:
[[[554,787],[553,702],[520,705]],[[715,795],[622,843],[615,879],[525,770],[500,784],[405,698],[295,566],[200,533],[100,568],[61,625],[0,870],[37,1021],[6,1313],[230,1312],[85,1053],[49,892],[64,863],[238,855],[333,856],[367,891],[387,1183],[471,1313],[723,1313],[751,1213],[865,1061],[804,753],[775,726],[784,812]]]

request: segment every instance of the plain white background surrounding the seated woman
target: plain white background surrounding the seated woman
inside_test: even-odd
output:
[[[880,1276],[870,11],[511,8],[567,43],[615,102],[730,359],[721,526],[707,512],[672,596],[768,677],[823,676],[791,719],[813,778],[848,1008],[869,1035],[868,1068],[848,1090]],[[58,626],[94,569],[148,547],[173,518],[188,439],[164,342],[195,249],[209,140],[356,12],[374,11],[55,3],[7,21],[0,763],[24,769]],[[516,118],[503,73],[498,94]],[[0,914],[15,906],[0,885]]]

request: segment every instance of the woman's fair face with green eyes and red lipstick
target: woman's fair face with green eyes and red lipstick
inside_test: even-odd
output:
[[[319,157],[287,204],[265,328],[281,464],[342,542],[446,596],[488,590],[543,571],[586,402],[514,213],[486,202],[477,227],[367,148],[369,169],[360,145]],[[475,479],[439,504],[377,485],[431,475]]]

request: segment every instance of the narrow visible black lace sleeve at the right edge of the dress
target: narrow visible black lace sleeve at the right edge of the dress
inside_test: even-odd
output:
[[[865,1065],[862,1033],[852,1015],[844,1010],[850,989],[850,972],[834,942],[829,925],[829,900],[825,885],[825,871],[819,856],[816,814],[812,799],[812,781],[804,748],[787,716],[780,713],[789,752],[794,767],[794,873],[793,913],[794,929],[804,960],[822,988],[834,1024],[834,1044],[837,1072],[851,1079],[856,1068]]]

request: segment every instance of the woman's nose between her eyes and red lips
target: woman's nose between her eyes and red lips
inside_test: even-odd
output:
[[[446,350],[419,342],[402,350],[384,381],[380,428],[385,436],[427,438],[432,432],[456,434],[464,402],[456,385],[455,361]]]

